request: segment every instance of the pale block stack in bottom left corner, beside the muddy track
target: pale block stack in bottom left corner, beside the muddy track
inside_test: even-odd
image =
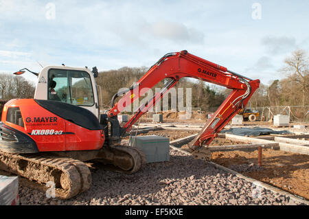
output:
[[[18,176],[0,175],[0,205],[19,205]]]

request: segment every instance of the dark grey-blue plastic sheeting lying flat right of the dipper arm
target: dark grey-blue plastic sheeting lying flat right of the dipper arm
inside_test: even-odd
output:
[[[229,128],[227,130],[222,130],[221,133],[227,133],[232,135],[240,135],[240,136],[259,136],[259,135],[270,135],[270,134],[293,134],[293,132],[289,132],[288,130],[272,130],[271,128]]]

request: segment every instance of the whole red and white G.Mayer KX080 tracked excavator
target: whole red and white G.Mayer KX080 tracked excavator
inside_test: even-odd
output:
[[[15,74],[24,73],[23,70]],[[96,67],[90,71],[87,67],[47,66],[39,73],[30,72],[38,77],[34,99],[10,100],[3,107],[0,169],[43,185],[52,181],[56,197],[62,199],[91,186],[91,172],[85,161],[113,165],[115,170],[127,174],[144,167],[144,152],[126,146],[122,138],[181,78],[196,78],[231,89],[189,144],[192,156],[205,161],[211,157],[211,141],[246,106],[260,85],[260,80],[251,80],[183,50],[165,54],[124,94],[116,93],[111,109],[100,114]],[[168,80],[165,87],[141,104],[126,124],[120,125],[117,115],[161,80]]]

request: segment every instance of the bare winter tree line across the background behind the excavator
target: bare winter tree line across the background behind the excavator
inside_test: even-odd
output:
[[[285,78],[274,80],[271,84],[260,84],[248,106],[306,106],[309,105],[309,62],[306,51],[297,49],[284,60],[284,66],[278,70]],[[100,71],[96,83],[102,88],[102,104],[111,107],[111,99],[121,88],[129,88],[148,71],[148,67],[122,67],[109,71]],[[165,79],[152,88],[163,88]],[[201,80],[182,78],[175,88],[192,89],[192,107],[207,111],[217,108],[229,95],[229,89],[221,89]],[[0,100],[34,97],[35,86],[21,76],[0,74]],[[141,97],[141,99],[144,97]],[[116,100],[117,101],[117,100]]]

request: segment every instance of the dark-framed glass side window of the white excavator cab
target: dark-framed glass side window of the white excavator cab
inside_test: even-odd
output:
[[[93,106],[91,78],[86,71],[49,69],[48,100],[78,106]]]

